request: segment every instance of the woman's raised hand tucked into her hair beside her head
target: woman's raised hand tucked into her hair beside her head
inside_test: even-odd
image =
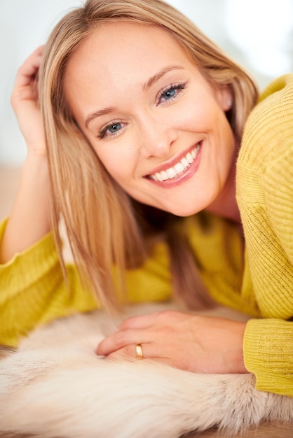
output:
[[[27,143],[28,153],[46,156],[43,121],[38,101],[37,77],[43,45],[32,53],[18,69],[11,96],[11,106]]]

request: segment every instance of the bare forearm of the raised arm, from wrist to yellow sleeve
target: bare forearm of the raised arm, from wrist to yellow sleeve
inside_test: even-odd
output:
[[[46,157],[28,155],[0,248],[1,264],[32,246],[50,230],[48,186]]]

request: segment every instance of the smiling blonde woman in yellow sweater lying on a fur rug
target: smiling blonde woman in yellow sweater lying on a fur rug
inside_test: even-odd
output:
[[[292,76],[255,106],[247,73],[158,0],[89,0],[41,53],[12,99],[28,154],[2,227],[1,341],[173,291],[251,319],[155,313],[126,320],[97,353],[253,372],[260,390],[293,395]]]

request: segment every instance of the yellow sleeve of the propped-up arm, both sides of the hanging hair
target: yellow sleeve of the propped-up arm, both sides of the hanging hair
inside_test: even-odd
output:
[[[6,221],[0,224],[0,241]],[[0,344],[17,345],[37,325],[74,312],[97,309],[97,299],[81,285],[74,264],[67,264],[64,281],[52,234],[0,265]],[[163,243],[142,267],[125,273],[128,296],[117,291],[118,302],[139,303],[170,299],[168,251]]]

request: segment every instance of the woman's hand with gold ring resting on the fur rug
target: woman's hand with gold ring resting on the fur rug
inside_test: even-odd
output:
[[[108,358],[144,358],[200,373],[245,373],[245,323],[212,316],[163,311],[125,320],[97,346]]]

